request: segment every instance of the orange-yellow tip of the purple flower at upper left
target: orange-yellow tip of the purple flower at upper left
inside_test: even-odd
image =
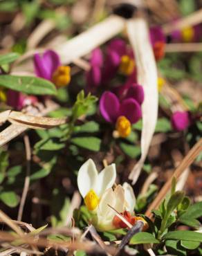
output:
[[[52,80],[58,87],[66,86],[71,80],[70,66],[59,66],[53,73]]]

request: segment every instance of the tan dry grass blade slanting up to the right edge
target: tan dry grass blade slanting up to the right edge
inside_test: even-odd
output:
[[[163,185],[163,188],[161,188],[160,192],[158,193],[158,196],[156,196],[156,198],[151,203],[151,205],[149,205],[149,208],[145,213],[147,217],[149,218],[152,217],[152,210],[157,209],[161,201],[165,198],[165,195],[171,188],[172,179],[174,177],[178,179],[181,176],[181,174],[183,174],[183,172],[187,169],[187,167],[189,167],[194,162],[194,159],[196,158],[196,156],[199,155],[201,150],[202,150],[202,138],[198,141],[198,143],[194,145],[194,147],[192,147],[190,152],[188,152],[187,156],[183,158],[183,161],[181,162],[180,165],[178,165],[172,177],[170,177],[170,179],[165,183],[165,185]]]

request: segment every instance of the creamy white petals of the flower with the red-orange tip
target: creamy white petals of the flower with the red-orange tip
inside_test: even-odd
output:
[[[127,210],[130,214],[134,214],[135,203],[134,190],[128,183],[124,183],[123,186],[118,185],[115,190],[112,188],[106,190],[100,199],[94,225],[102,231],[116,228],[113,225],[116,212],[109,205],[120,213]]]

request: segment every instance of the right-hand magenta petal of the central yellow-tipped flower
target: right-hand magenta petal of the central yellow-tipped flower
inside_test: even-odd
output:
[[[131,124],[138,122],[138,120],[140,120],[142,117],[140,104],[132,98],[123,100],[120,104],[118,116],[125,116],[131,122]]]

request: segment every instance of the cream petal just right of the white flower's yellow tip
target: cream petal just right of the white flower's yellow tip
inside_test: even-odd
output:
[[[114,210],[112,210],[109,205],[113,208],[116,205],[116,194],[113,192],[112,188],[109,188],[104,192],[100,199],[100,203],[98,205],[98,222],[99,219],[112,219],[115,215]]]

